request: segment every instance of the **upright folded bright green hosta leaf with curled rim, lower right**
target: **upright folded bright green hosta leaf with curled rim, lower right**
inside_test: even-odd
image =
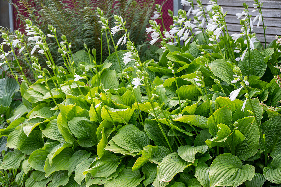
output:
[[[211,148],[218,146],[232,149],[245,139],[244,135],[239,130],[234,129],[232,131],[225,124],[220,123],[217,125],[217,128],[219,130],[217,131],[217,136],[206,140],[206,144]]]

